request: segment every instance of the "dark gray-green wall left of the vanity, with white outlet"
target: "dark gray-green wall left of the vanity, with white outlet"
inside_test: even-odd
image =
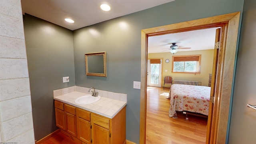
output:
[[[75,85],[73,33],[25,14],[24,32],[35,139],[54,132],[53,90]],[[63,83],[62,77],[70,82]]]

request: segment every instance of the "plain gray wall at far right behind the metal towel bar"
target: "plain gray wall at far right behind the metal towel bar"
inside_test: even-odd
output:
[[[229,144],[255,144],[256,111],[256,0],[244,0],[238,46]]]

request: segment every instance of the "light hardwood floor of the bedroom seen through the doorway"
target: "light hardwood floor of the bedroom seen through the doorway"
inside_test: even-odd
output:
[[[207,118],[177,112],[178,118],[168,116],[170,99],[160,94],[170,88],[148,87],[146,112],[146,144],[205,144]]]

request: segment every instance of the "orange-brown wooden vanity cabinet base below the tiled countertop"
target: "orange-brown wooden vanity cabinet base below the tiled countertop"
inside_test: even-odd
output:
[[[126,142],[126,106],[111,119],[57,100],[54,104],[56,126],[78,143],[82,141],[82,144],[124,144]]]

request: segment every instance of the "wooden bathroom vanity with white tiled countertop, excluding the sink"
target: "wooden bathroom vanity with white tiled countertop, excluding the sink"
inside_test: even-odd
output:
[[[71,92],[54,97],[56,126],[61,132],[82,144],[124,144],[126,102],[101,97],[92,104],[76,104],[75,99],[83,95]]]

